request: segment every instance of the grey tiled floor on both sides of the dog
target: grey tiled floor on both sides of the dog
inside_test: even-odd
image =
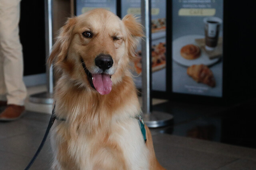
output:
[[[37,87],[38,88],[38,87]],[[29,89],[29,93],[45,90],[44,86]],[[34,91],[33,91],[34,90]],[[156,101],[163,102],[163,101]],[[161,106],[161,105],[157,105]],[[44,136],[50,119],[51,106],[26,102],[27,110],[22,119],[9,123],[0,122],[0,170],[22,170],[26,167]],[[160,107],[162,108],[162,106]],[[186,110],[172,110],[176,119],[174,126],[182,126],[188,117]],[[40,113],[41,112],[41,113]],[[45,112],[45,113],[42,113]],[[182,116],[184,115],[184,116]],[[189,119],[198,120],[202,113],[190,115]],[[177,128],[172,134],[178,134]],[[182,128],[178,128],[182,129]],[[166,129],[152,129],[156,156],[167,170],[255,170],[256,149],[227,145],[163,134]],[[48,170],[52,161],[49,139],[32,165],[32,170]]]

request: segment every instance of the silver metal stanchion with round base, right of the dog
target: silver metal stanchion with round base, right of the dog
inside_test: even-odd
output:
[[[148,127],[163,127],[173,119],[170,113],[151,111],[151,1],[141,0],[142,25],[145,39],[142,40],[142,112],[144,122]]]

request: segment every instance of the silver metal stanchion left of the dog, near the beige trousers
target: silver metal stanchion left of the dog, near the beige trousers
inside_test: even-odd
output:
[[[46,41],[46,56],[50,54],[52,49],[52,0],[44,0],[44,11],[45,11],[45,41]],[[47,92],[33,94],[29,97],[30,102],[52,104],[53,103],[53,69],[52,65],[50,68],[46,64],[47,74]]]

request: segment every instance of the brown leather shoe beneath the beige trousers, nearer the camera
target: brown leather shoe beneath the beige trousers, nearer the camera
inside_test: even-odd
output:
[[[19,119],[25,111],[24,106],[14,104],[7,105],[6,109],[0,113],[0,121],[14,121]]]

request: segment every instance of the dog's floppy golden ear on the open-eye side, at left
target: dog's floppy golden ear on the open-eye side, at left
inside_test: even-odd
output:
[[[76,18],[69,18],[60,29],[56,43],[52,47],[52,52],[48,58],[49,64],[58,64],[64,61],[68,53],[68,47],[72,40],[72,31],[76,23]]]

